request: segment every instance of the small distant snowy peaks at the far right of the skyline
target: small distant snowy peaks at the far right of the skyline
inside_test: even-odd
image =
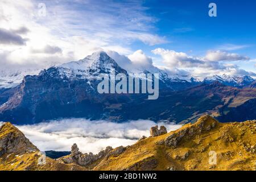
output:
[[[228,86],[236,86],[236,87],[242,87],[250,85],[252,82],[254,82],[254,78],[250,76],[229,76],[229,75],[214,75],[212,77],[207,77],[204,79],[204,82],[213,82],[213,81],[219,81],[224,85]]]

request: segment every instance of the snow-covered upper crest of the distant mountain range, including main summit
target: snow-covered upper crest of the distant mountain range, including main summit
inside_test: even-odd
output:
[[[98,73],[107,73],[110,68],[118,69],[118,73],[130,73],[130,71],[126,71],[123,68],[119,67],[117,62],[109,57],[104,51],[94,52],[92,55],[89,55],[79,61],[71,61],[69,63],[50,67],[49,69],[53,68],[56,68],[58,70],[60,74],[59,76],[61,78],[68,77],[72,79],[79,78],[86,80],[94,79],[94,76],[96,76]],[[45,72],[46,70],[41,72]],[[213,81],[220,81],[222,84],[228,86],[242,88],[243,86],[248,86],[255,81],[255,79],[250,76],[229,76],[225,74],[206,77],[200,81],[200,79],[189,75],[170,75],[166,71],[154,66],[145,69],[137,68],[135,69],[134,73],[136,73],[137,75],[139,75],[139,73],[159,73],[160,78],[163,81],[172,82],[173,84],[175,82],[176,84],[177,82],[195,84],[201,82],[209,83]],[[39,70],[16,71],[13,73],[0,72],[0,88],[13,88],[22,82],[24,76],[33,76],[39,74]]]

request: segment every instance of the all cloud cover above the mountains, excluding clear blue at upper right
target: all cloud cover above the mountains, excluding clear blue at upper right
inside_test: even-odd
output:
[[[177,39],[173,42],[175,39],[168,34],[160,34],[157,26],[162,19],[149,13],[150,7],[144,1],[47,1],[45,16],[39,14],[39,3],[42,2],[0,1],[0,73],[38,71],[104,50],[131,72],[157,71],[158,67],[170,75],[193,77],[255,75],[253,68],[240,64],[249,61],[249,57],[229,52],[251,48],[249,44],[225,43],[196,56],[167,49],[175,44],[179,47],[180,43]],[[177,32],[196,32],[196,28],[188,26],[172,30],[175,36],[179,36]],[[251,61],[246,63],[254,67]]]

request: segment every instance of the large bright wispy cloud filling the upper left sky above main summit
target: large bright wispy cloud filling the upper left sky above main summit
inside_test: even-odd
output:
[[[146,14],[142,2],[47,1],[46,16],[39,16],[39,3],[0,2],[0,39],[5,43],[0,44],[5,65],[0,69],[42,69],[100,49],[129,54],[137,40],[148,45],[167,42],[152,33],[157,19]]]

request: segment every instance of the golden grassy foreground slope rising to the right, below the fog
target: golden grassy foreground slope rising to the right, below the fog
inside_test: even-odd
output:
[[[255,127],[256,121],[219,123],[205,115],[193,125],[141,140],[94,169],[255,170]]]

